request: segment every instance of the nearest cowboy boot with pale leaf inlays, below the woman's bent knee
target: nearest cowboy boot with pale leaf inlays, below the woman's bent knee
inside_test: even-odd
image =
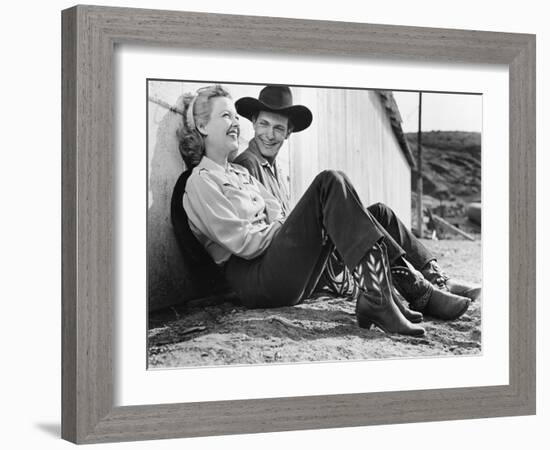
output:
[[[424,328],[409,322],[393,300],[388,256],[383,244],[372,247],[354,271],[359,286],[355,306],[357,323],[373,324],[386,333],[422,336]]]

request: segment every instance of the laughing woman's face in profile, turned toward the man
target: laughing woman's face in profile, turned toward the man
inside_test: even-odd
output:
[[[207,150],[222,151],[229,155],[239,148],[239,116],[233,100],[227,97],[215,97],[210,100],[212,112],[208,123],[199,125],[199,131],[205,136]]]

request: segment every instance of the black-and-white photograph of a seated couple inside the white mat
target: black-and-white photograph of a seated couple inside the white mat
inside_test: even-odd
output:
[[[148,368],[481,355],[482,99],[148,79]]]

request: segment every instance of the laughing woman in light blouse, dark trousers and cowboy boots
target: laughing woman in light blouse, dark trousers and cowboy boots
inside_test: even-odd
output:
[[[292,213],[281,206],[246,169],[229,162],[238,150],[239,118],[229,93],[209,86],[184,99],[180,151],[194,167],[183,206],[193,234],[202,243],[248,307],[294,305],[306,298],[336,248],[353,273],[359,292],[360,327],[420,336],[392,293],[384,235],[361,204],[345,174],[319,174]],[[433,289],[407,268],[407,294],[433,303]],[[469,300],[446,302],[445,313],[462,314]]]

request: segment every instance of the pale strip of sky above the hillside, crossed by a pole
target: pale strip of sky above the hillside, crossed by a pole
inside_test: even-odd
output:
[[[418,92],[393,91],[403,131],[418,131]],[[422,94],[422,131],[481,132],[482,96],[470,94]]]

